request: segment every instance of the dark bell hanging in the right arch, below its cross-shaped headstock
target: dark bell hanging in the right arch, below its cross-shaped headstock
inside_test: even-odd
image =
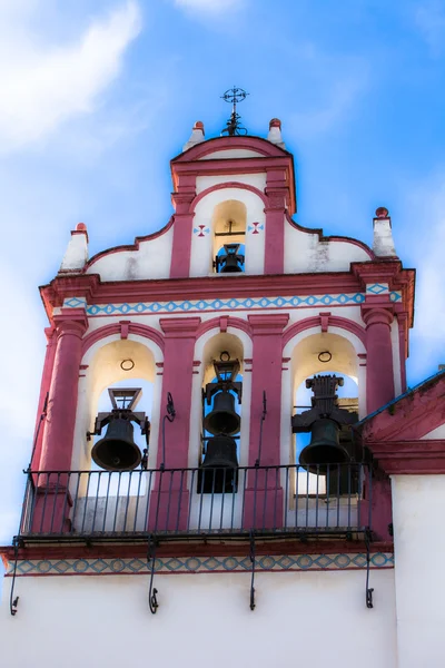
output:
[[[303,449],[299,463],[310,473],[326,474],[328,465],[350,462],[347,449],[339,442],[339,429],[334,420],[320,418],[312,428],[310,443]]]

